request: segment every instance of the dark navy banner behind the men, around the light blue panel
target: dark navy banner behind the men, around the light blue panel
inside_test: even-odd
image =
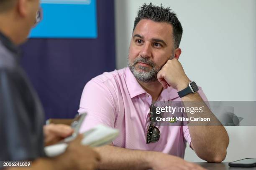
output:
[[[114,0],[96,2],[96,39],[32,38],[21,46],[20,62],[38,92],[46,119],[74,118],[84,85],[115,69]]]

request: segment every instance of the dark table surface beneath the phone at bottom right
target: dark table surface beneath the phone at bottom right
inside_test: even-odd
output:
[[[240,168],[240,167],[230,167],[228,166],[229,162],[222,163],[196,163],[207,170],[256,170],[256,167],[252,168]]]

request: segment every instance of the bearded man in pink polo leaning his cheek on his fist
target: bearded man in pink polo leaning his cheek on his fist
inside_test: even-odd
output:
[[[128,66],[105,72],[84,87],[81,132],[98,124],[120,130],[112,145],[96,148],[102,169],[202,169],[184,161],[186,143],[208,162],[225,159],[228,134],[219,126],[154,126],[157,101],[207,101],[178,61],[182,25],[169,7],[144,4],[135,19]],[[203,102],[204,103],[204,102]],[[185,106],[189,104],[185,104]],[[204,103],[205,115],[212,115]],[[161,133],[161,137],[160,137]]]

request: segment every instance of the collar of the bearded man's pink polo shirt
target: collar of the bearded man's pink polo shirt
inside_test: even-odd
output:
[[[146,93],[146,90],[144,90],[141,87],[141,85],[138,83],[138,81],[134,77],[129,67],[125,68],[125,79],[126,79],[128,92],[131,98],[141,95],[143,93]],[[159,100],[167,101],[167,100],[173,100],[177,97],[179,97],[177,90],[172,87],[168,87],[167,89],[164,89],[161,92]]]

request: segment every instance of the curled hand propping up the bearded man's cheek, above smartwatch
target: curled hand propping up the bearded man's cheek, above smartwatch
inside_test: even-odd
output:
[[[176,58],[166,62],[166,64],[158,72],[157,79],[159,82],[161,82],[165,89],[168,86],[172,86],[178,91],[186,88],[190,82],[183,70],[181,63]]]

